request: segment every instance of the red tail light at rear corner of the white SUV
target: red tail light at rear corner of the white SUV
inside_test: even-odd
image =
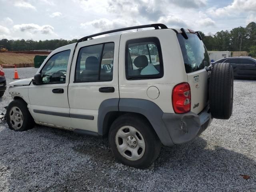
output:
[[[176,85],[172,90],[172,107],[175,113],[190,112],[191,92],[188,83]]]

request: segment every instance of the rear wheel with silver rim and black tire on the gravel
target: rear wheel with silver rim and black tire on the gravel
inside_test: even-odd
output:
[[[161,142],[150,123],[130,114],[122,115],[113,122],[108,133],[108,142],[119,162],[141,169],[150,166],[161,149]],[[127,149],[121,153],[120,146],[126,146]]]

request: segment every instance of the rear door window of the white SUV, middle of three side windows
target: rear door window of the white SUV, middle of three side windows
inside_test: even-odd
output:
[[[80,48],[75,82],[111,81],[113,78],[114,43]]]

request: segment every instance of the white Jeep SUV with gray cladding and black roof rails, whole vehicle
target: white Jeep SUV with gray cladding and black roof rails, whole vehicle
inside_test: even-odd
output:
[[[154,28],[102,38],[113,32]],[[150,24],[86,36],[46,58],[34,78],[10,83],[10,129],[34,124],[108,136],[123,164],[145,168],[161,145],[194,139],[232,114],[233,70],[211,66],[198,32]]]

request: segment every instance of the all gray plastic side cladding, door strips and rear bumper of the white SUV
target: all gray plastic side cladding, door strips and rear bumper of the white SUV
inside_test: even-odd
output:
[[[34,110],[36,113],[83,118],[93,120],[94,116],[81,116],[76,114],[55,113]],[[185,114],[164,113],[158,105],[149,100],[114,98],[104,100],[98,110],[98,133],[85,130],[74,130],[79,134],[104,136],[108,132],[108,123],[111,121],[110,113],[133,112],[145,116],[154,128],[158,138],[165,146],[182,144],[201,134],[211,123],[212,118],[209,107],[200,114],[188,112]],[[49,125],[48,125],[49,126]]]

